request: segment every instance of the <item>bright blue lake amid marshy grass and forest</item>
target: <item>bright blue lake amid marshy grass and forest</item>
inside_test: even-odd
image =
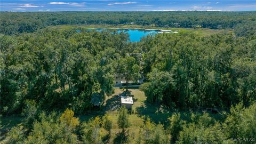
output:
[[[97,31],[109,30],[109,29],[95,29]],[[117,33],[125,32],[129,34],[130,42],[139,42],[141,37],[145,37],[147,35],[155,35],[159,30],[151,30],[151,29],[117,29]]]

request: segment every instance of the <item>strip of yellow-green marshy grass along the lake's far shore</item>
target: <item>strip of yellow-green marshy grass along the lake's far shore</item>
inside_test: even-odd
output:
[[[91,28],[129,28],[129,29],[157,29],[157,30],[172,30],[179,31],[180,33],[194,33],[200,36],[209,36],[212,34],[222,33],[224,31],[233,31],[233,29],[208,29],[208,28],[167,28],[167,27],[154,27],[154,26],[140,26],[140,25],[58,25],[58,26],[49,26],[52,29],[61,29],[61,30],[70,30],[73,28],[83,28],[83,29],[91,29]]]

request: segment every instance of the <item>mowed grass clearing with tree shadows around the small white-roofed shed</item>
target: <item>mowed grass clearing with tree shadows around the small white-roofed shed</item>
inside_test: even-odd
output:
[[[150,104],[146,101],[145,93],[139,89],[129,89],[128,92],[125,90],[115,88],[115,93],[110,97],[106,98],[105,103],[103,104],[104,114],[108,114],[109,118],[113,122],[113,134],[118,133],[118,109],[121,107],[120,97],[121,95],[129,95],[133,98],[132,110],[129,111],[129,130],[137,133],[139,127],[143,125],[143,122],[146,119],[151,119],[155,123],[165,123],[168,121],[168,117],[171,116],[171,113],[163,110],[161,106]],[[83,115],[79,116],[81,121],[87,121],[89,118],[93,118],[97,115]]]

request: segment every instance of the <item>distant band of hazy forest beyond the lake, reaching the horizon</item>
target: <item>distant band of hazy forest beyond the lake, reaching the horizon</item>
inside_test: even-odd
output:
[[[118,25],[131,22],[142,26],[234,28],[256,20],[256,12],[1,12],[1,33],[33,32],[55,25]]]

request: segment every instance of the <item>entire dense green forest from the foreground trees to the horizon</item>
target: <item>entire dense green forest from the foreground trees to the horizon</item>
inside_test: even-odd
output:
[[[134,21],[234,30],[148,35],[132,43],[116,30],[44,28]],[[1,33],[1,118],[23,116],[4,143],[256,141],[255,12],[1,12]],[[129,81],[145,77],[140,90],[147,102],[172,111],[166,123],[146,117],[134,134],[131,115],[121,107],[115,119],[120,132],[113,133],[113,119],[96,112],[91,99],[95,92],[102,100],[114,93],[115,74]],[[89,121],[77,118],[91,113]]]

